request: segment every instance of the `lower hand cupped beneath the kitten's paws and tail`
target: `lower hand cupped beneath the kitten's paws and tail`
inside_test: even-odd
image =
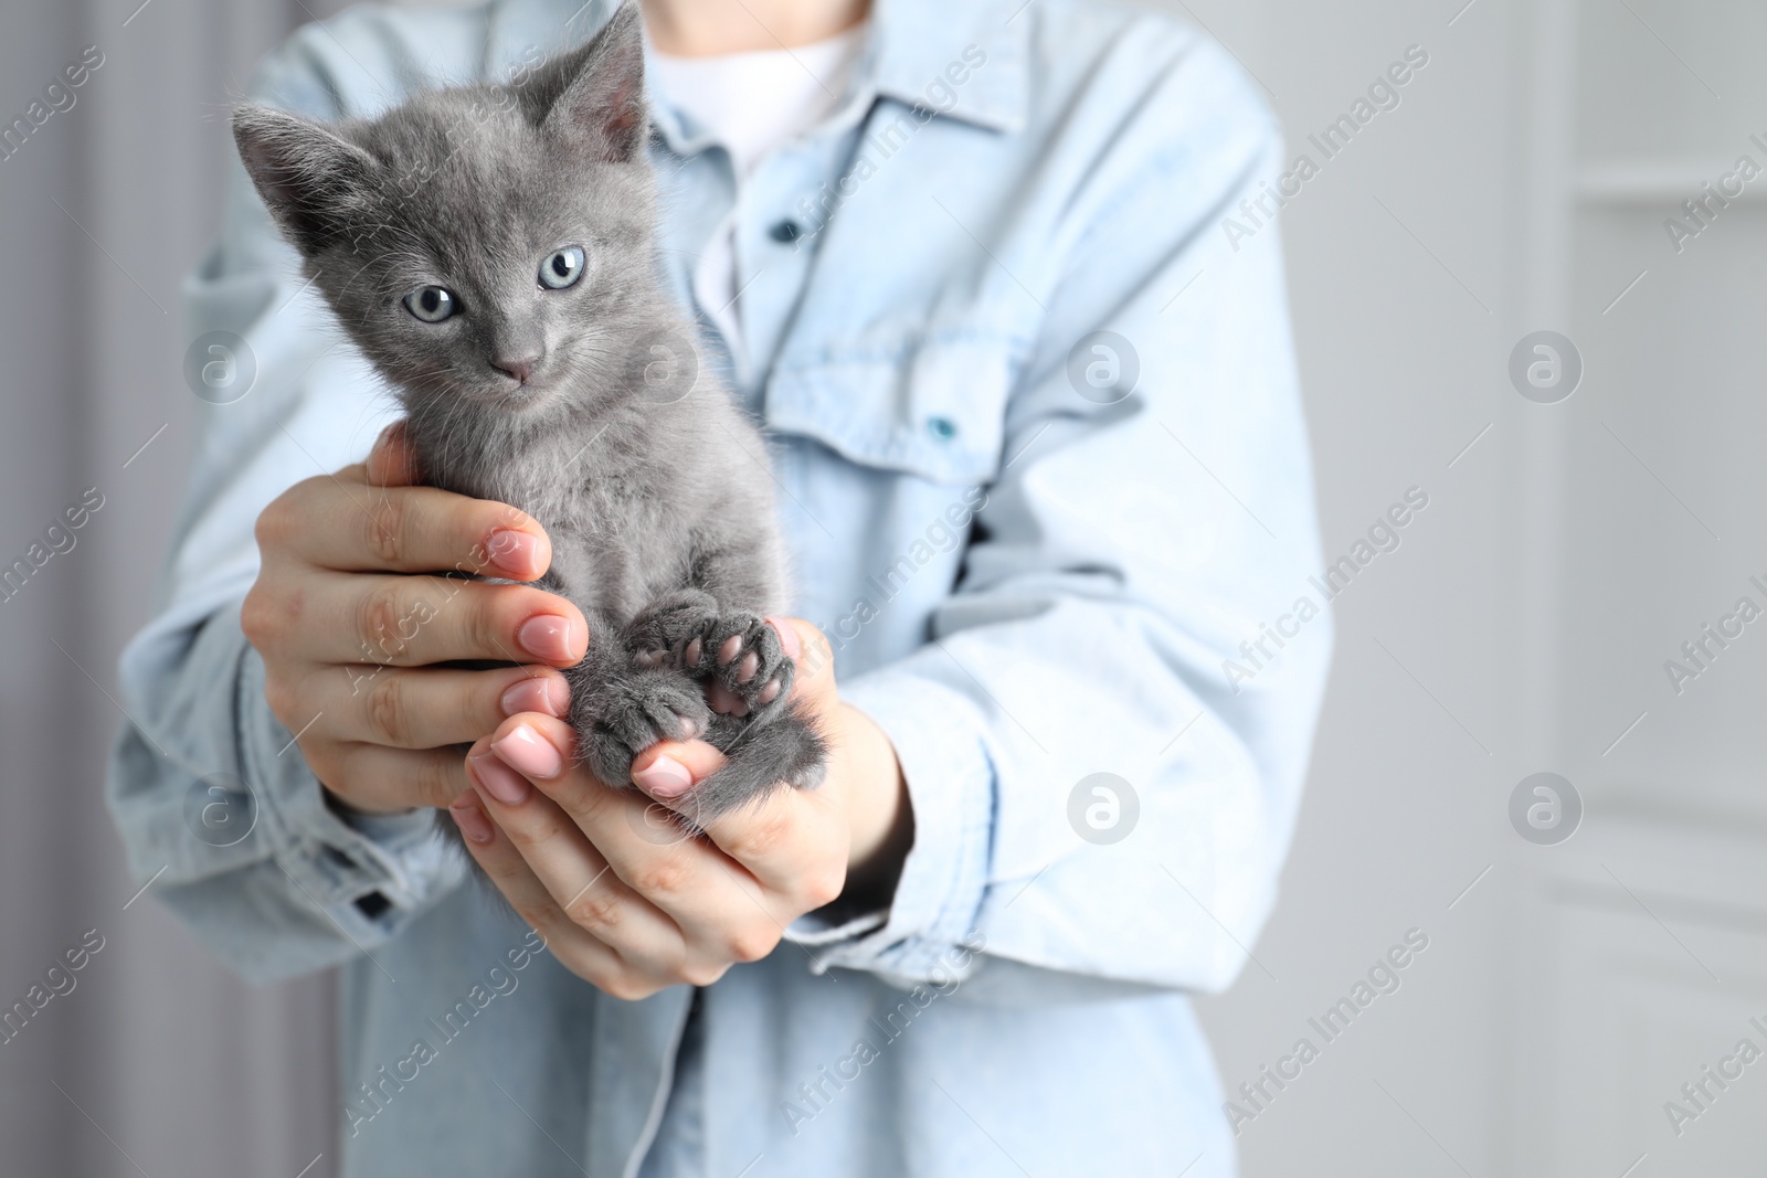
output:
[[[542,714],[504,721],[466,756],[474,789],[451,809],[479,865],[560,963],[615,998],[709,985],[772,952],[788,924],[834,899],[887,904],[914,839],[908,793],[882,729],[839,701],[822,632],[774,620],[792,689],[829,738],[816,789],[779,788],[686,837],[691,786],[723,763],[703,742],[638,756],[638,789],[573,763],[576,735]]]

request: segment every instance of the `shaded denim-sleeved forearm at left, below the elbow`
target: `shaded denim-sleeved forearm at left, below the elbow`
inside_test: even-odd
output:
[[[459,878],[410,816],[327,807],[263,701],[237,608],[155,623],[125,652],[106,786],[129,864],[228,964],[256,980],[336,964],[394,936]]]

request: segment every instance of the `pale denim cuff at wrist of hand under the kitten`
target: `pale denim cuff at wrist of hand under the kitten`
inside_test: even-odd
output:
[[[816,973],[868,970],[905,984],[944,978],[952,948],[975,933],[993,844],[995,763],[975,701],[906,669],[843,683],[896,749],[914,805],[914,848],[882,913],[800,917],[786,938],[811,950]],[[967,957],[967,954],[963,954]]]

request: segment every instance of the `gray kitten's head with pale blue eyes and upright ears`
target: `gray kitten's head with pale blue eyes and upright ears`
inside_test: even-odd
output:
[[[656,314],[647,131],[636,4],[509,85],[371,122],[233,115],[283,235],[413,413],[544,415],[617,380]]]

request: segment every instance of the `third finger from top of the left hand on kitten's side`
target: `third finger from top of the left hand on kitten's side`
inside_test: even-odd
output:
[[[569,715],[571,687],[551,668],[320,666],[300,710],[325,714],[330,733],[394,749],[472,744],[521,712]]]

